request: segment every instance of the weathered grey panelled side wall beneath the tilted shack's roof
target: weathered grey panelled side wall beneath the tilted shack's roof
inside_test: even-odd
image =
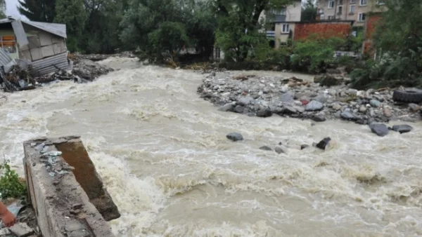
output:
[[[59,55],[67,51],[65,39],[60,36],[41,31],[34,27],[24,26],[30,44],[20,47],[19,56],[22,59],[37,61],[46,57]]]

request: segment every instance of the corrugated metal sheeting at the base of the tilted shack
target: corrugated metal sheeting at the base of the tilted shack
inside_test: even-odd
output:
[[[71,65],[68,61],[68,53],[62,53],[53,57],[47,57],[42,60],[32,62],[32,68],[40,75],[58,72],[58,70],[70,70]]]

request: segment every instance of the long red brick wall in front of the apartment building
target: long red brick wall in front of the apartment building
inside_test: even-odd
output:
[[[298,22],[295,26],[293,39],[307,39],[318,35],[324,38],[345,37],[350,34],[351,22]]]

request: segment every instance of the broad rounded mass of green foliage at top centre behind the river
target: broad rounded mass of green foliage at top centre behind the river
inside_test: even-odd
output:
[[[185,47],[210,56],[216,25],[207,1],[134,0],[120,23],[120,39],[142,57],[158,61],[169,53],[179,56]]]

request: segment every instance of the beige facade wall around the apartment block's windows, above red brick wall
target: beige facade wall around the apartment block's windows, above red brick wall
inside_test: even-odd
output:
[[[360,0],[334,0],[334,7],[328,8],[330,0],[319,0],[318,9],[324,13],[324,20],[328,20],[328,16],[334,16],[336,20],[354,20],[354,27],[363,27],[365,21],[359,21],[359,13],[381,12],[386,8],[382,4],[377,4],[378,0],[367,0],[366,5],[361,5]],[[341,5],[340,5],[341,4]],[[343,11],[338,13],[338,7],[342,6]],[[354,13],[350,13],[350,6],[354,6]],[[321,19],[323,20],[323,19]]]

